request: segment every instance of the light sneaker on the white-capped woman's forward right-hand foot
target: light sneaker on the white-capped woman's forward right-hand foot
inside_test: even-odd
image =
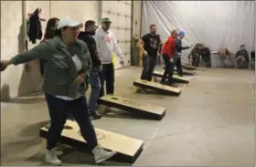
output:
[[[115,155],[116,151],[105,151],[101,146],[96,146],[92,153],[94,155],[94,160],[96,163],[104,162],[110,158],[112,158],[113,155]]]

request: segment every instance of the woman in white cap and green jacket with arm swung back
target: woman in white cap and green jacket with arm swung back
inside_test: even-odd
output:
[[[91,57],[87,45],[76,39],[81,27],[82,24],[63,18],[59,21],[57,37],[9,60],[2,60],[0,64],[3,71],[11,64],[19,65],[38,58],[46,60],[43,90],[48,104],[50,127],[45,160],[51,165],[61,164],[55,147],[67,120],[68,110],[78,122],[80,133],[94,154],[95,162],[103,162],[116,153],[104,151],[98,145],[89,118],[85,80],[91,72]]]

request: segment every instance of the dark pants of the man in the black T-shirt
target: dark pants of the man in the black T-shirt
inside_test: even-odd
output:
[[[152,80],[152,75],[155,69],[155,64],[157,61],[157,57],[155,56],[146,56],[143,57],[143,72],[141,79],[143,80]]]

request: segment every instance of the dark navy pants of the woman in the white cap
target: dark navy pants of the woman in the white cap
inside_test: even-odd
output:
[[[80,133],[83,139],[87,141],[89,149],[93,150],[94,147],[98,145],[98,141],[95,130],[89,118],[87,101],[85,97],[82,96],[80,99],[75,100],[64,100],[56,98],[48,93],[45,93],[45,96],[50,116],[47,149],[51,150],[56,147],[67,120],[69,110],[80,126]]]

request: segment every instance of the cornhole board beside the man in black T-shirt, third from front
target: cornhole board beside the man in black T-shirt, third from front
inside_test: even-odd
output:
[[[144,89],[152,89],[152,90],[159,91],[161,93],[175,95],[175,96],[179,96],[181,93],[181,89],[179,88],[174,88],[174,87],[166,86],[160,83],[150,82],[142,79],[137,79],[133,81],[133,86],[144,88]]]

